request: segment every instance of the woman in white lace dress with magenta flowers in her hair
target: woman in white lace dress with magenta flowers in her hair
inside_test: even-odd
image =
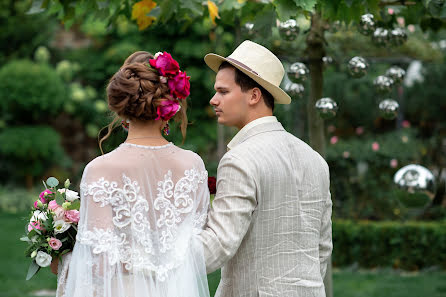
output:
[[[184,137],[188,95],[189,77],[166,52],[136,52],[110,79],[108,106],[128,137],[84,170],[77,241],[58,267],[57,296],[209,296],[193,236],[206,221],[207,171],[161,134],[173,118]]]

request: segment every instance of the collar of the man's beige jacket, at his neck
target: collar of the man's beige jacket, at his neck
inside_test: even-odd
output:
[[[269,131],[284,131],[282,124],[277,121],[275,116],[267,116],[258,118],[245,125],[232,140],[228,143],[227,150],[233,149],[235,146],[244,142],[246,139],[259,133]]]

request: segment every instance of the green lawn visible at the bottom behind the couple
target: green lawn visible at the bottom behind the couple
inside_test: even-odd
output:
[[[56,288],[56,277],[48,269],[25,281],[29,261],[24,257],[23,235],[26,213],[0,211],[0,297],[31,297],[31,292]],[[211,296],[215,294],[220,272],[208,276]],[[392,269],[333,272],[335,297],[446,297],[446,272],[404,272]]]

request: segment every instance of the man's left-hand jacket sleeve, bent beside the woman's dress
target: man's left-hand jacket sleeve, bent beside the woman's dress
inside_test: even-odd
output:
[[[236,253],[257,206],[256,183],[250,168],[227,153],[217,172],[217,193],[200,239],[203,242],[206,271],[221,268]]]

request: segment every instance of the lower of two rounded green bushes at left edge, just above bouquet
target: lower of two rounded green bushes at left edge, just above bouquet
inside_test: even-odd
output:
[[[59,134],[47,126],[16,126],[0,132],[2,180],[32,179],[53,166],[68,167],[70,159],[60,143]],[[26,181],[27,186],[32,182]]]

